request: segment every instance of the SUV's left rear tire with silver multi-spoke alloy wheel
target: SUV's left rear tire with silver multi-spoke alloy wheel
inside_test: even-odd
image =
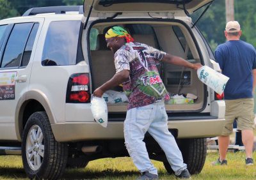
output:
[[[58,179],[67,156],[68,146],[55,140],[47,114],[33,113],[22,135],[22,161],[29,179]]]

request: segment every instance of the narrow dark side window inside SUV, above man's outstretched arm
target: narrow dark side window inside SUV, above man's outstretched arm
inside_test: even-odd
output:
[[[177,36],[177,38],[180,42],[180,45],[182,46],[182,49],[184,50],[184,53],[186,55],[186,59],[194,59],[193,55],[191,53],[191,50],[188,46],[188,43],[186,41],[186,38],[185,38],[184,34],[182,33],[180,27],[179,26],[172,26],[172,29],[173,29],[175,35]]]

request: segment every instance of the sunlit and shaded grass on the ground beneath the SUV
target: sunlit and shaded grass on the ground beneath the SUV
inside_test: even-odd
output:
[[[228,153],[228,165],[212,167],[218,158],[216,152],[207,153],[204,169],[192,179],[256,179],[256,165],[244,165],[244,153]],[[256,160],[256,152],[253,153]],[[175,179],[168,175],[163,163],[153,161],[159,170],[159,179]],[[62,179],[136,179],[140,174],[130,158],[106,158],[91,161],[85,169],[69,169]],[[0,179],[27,179],[20,156],[0,156]]]

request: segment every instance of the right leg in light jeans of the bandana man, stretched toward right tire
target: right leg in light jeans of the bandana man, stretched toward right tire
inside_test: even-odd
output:
[[[182,154],[179,147],[167,126],[167,114],[164,103],[158,103],[156,119],[150,124],[148,133],[157,141],[159,146],[166,154],[166,158],[170,163],[176,175],[180,175],[187,165],[183,163]]]

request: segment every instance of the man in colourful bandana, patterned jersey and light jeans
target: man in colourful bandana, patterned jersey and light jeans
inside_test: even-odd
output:
[[[127,116],[124,122],[125,146],[132,161],[141,172],[140,179],[157,179],[157,169],[148,158],[145,133],[148,131],[162,147],[176,176],[189,178],[187,165],[173,135],[168,130],[164,100],[170,96],[159,75],[156,64],[160,61],[186,66],[197,70],[200,63],[188,61],[143,43],[134,42],[124,28],[115,26],[106,33],[109,49],[115,54],[116,74],[108,82],[95,89],[93,96],[102,94],[123,83],[129,96]]]

